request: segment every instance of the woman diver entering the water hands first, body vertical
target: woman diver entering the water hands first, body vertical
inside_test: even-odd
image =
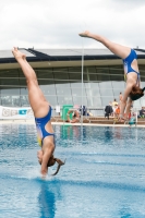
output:
[[[12,50],[14,58],[20,63],[22,71],[26,77],[28,88],[28,99],[34,111],[35,122],[37,128],[37,138],[41,150],[37,153],[38,161],[41,165],[41,174],[45,177],[48,172],[48,167],[58,162],[57,174],[60,167],[64,165],[60,159],[53,157],[56,148],[55,133],[51,125],[51,106],[46,100],[41,89],[38,86],[35,71],[26,61],[24,53],[20,52],[17,48]]]

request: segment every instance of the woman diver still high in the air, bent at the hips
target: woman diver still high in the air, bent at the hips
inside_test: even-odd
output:
[[[144,95],[144,89],[140,88],[141,80],[136,60],[137,57],[135,51],[129,47],[114,44],[102,36],[92,34],[88,31],[81,33],[78,35],[81,37],[93,38],[101,43],[112,53],[114,53],[116,56],[120,57],[123,60],[126,87],[121,101],[120,120],[126,120],[130,112],[130,108],[132,106],[132,101],[141,98]],[[124,117],[124,111],[125,111],[125,117]]]

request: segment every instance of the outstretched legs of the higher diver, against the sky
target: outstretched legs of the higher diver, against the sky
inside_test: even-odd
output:
[[[88,31],[81,33],[80,36],[82,37],[88,37],[93,38],[99,43],[101,43],[104,46],[106,46],[112,53],[120,57],[121,59],[125,59],[130,52],[131,48],[121,46],[119,44],[112,43],[109,39],[105,38],[104,36],[92,34]]]

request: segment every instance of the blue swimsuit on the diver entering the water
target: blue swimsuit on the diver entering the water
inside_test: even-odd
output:
[[[39,146],[43,146],[43,141],[47,136],[53,136],[55,141],[55,133],[48,133],[45,129],[46,124],[51,119],[51,107],[49,106],[48,114],[44,118],[35,118],[36,129],[37,129],[37,141],[39,143]]]

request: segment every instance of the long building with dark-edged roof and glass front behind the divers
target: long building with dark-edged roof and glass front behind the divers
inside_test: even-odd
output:
[[[21,50],[53,107],[83,104],[88,108],[100,108],[114,98],[119,100],[120,92],[124,90],[122,61],[107,49],[85,49],[83,58],[81,49]],[[136,53],[144,87],[145,51],[136,49]],[[29,106],[26,80],[11,51],[0,51],[0,105]],[[135,101],[135,107],[142,106],[145,106],[145,97]]]

